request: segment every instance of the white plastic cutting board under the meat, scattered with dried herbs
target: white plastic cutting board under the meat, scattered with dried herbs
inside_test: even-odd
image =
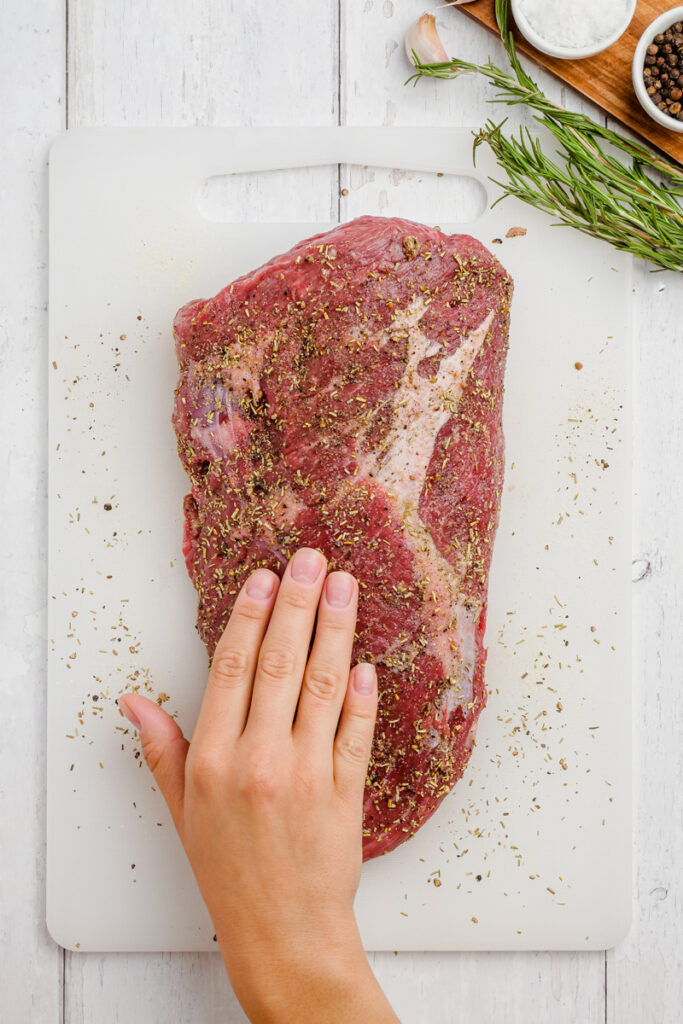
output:
[[[53,146],[47,918],[62,945],[216,948],[114,699],[167,695],[190,735],[206,679],[180,554],[173,315],[321,225],[250,224],[248,208],[209,221],[198,190],[336,164],[484,181],[483,157],[473,172],[469,131],[412,128],[86,130]],[[366,865],[357,913],[371,949],[602,948],[630,920],[630,263],[512,201],[469,229],[504,239],[516,282],[490,695],[465,777]]]

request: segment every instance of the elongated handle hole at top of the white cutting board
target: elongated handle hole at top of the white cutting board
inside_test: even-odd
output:
[[[301,223],[366,213],[443,224],[473,224],[486,209],[484,185],[468,174],[332,165],[214,174],[197,193],[207,220]]]

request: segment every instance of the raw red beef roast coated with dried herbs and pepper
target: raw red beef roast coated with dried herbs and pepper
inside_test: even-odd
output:
[[[238,590],[302,546],[360,587],[380,706],[364,855],[460,778],[484,706],[512,282],[468,236],[361,217],[177,314],[183,552],[209,653]]]

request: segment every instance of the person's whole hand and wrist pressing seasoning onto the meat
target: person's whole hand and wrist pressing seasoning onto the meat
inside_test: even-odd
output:
[[[154,701],[126,694],[119,706],[139,730],[250,1018],[382,1024],[397,1018],[353,915],[377,681],[371,665],[349,673],[357,584],[326,570],[304,548],[282,583],[252,573],[191,743]]]

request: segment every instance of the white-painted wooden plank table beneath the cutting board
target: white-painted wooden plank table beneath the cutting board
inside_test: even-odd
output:
[[[490,109],[476,78],[403,88],[402,35],[424,2],[0,5],[0,1018],[6,1024],[245,1020],[218,956],[81,955],[55,946],[45,929],[48,144],[68,125],[479,124]],[[449,49],[504,61],[482,30],[457,11],[438,13]],[[538,77],[551,95],[582,105]],[[513,123],[522,116],[508,113]],[[333,218],[353,215],[357,178],[346,180],[337,168],[316,171],[318,207]],[[268,188],[261,185],[245,183],[245,198],[253,214],[267,218]],[[293,196],[289,213],[305,219],[307,201],[301,197],[297,207]],[[405,1024],[682,1019],[682,278],[637,268],[634,330],[633,928],[607,953],[375,954],[373,966]]]

